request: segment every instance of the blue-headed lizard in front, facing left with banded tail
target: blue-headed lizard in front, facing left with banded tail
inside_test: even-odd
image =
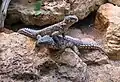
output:
[[[64,38],[62,38],[61,35],[45,35],[43,37],[38,35],[36,46],[44,46],[54,50],[64,50],[65,48],[71,48],[77,54],[80,54],[79,50],[81,49],[99,50],[102,51],[104,54],[107,54],[97,43],[85,43],[77,38],[73,38],[68,35],[66,35]]]

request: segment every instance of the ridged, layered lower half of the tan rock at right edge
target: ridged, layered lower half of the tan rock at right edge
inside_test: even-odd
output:
[[[105,36],[105,50],[109,53],[109,58],[120,60],[120,23],[110,23]]]

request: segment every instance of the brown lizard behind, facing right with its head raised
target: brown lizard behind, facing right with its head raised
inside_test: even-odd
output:
[[[30,28],[22,28],[18,30],[18,33],[29,36],[36,39],[37,35],[62,35],[65,36],[66,31],[74,23],[78,22],[78,17],[76,15],[68,15],[64,17],[64,20],[58,22],[54,25],[48,26],[40,30],[34,30]]]

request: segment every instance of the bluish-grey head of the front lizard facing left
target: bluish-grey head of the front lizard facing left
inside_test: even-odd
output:
[[[49,35],[45,35],[43,37],[41,37],[40,35],[37,36],[36,46],[51,48],[54,45],[55,45],[55,42],[53,38],[50,37]]]

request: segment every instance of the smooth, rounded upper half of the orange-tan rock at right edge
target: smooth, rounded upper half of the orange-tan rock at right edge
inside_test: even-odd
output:
[[[120,7],[106,3],[97,11],[95,28],[101,32],[106,31],[110,22],[119,22]]]

